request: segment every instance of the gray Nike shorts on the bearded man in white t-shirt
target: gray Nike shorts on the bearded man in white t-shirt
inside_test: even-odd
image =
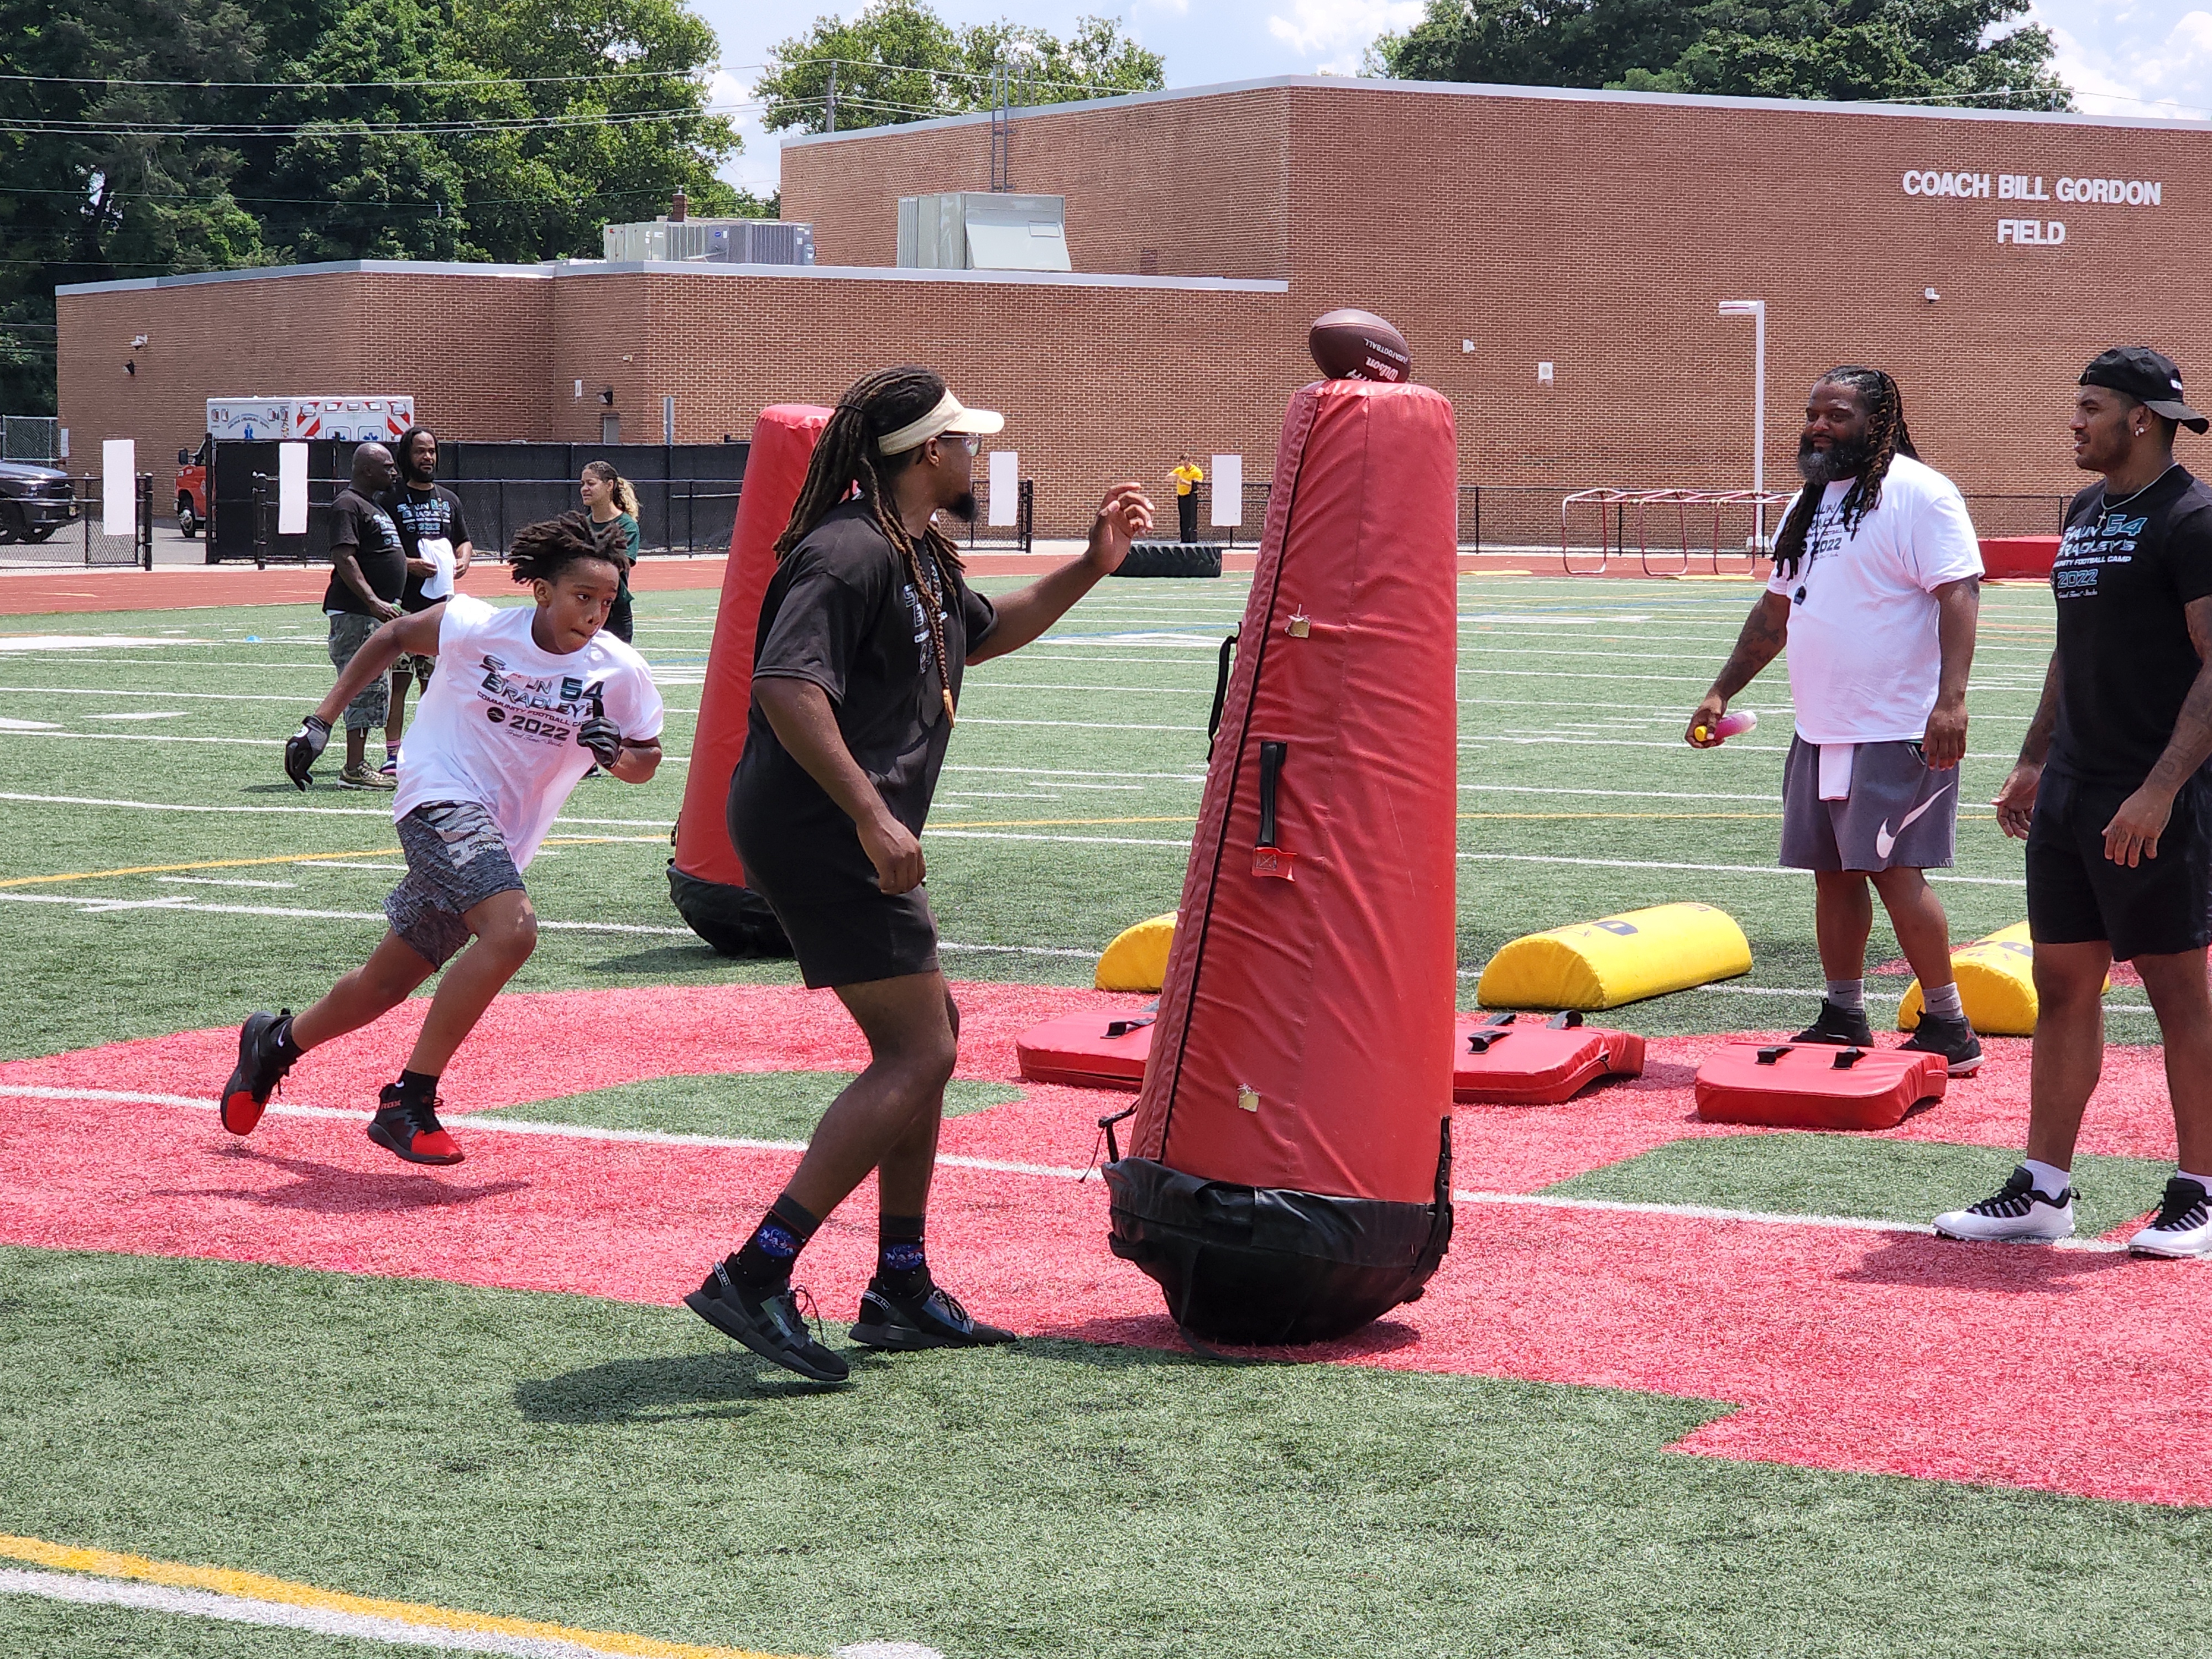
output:
[[[1918,743],[1858,743],[1851,794],[1820,799],[1820,745],[1790,739],[1783,761],[1783,869],[1949,869],[1958,849],[1958,768]]]

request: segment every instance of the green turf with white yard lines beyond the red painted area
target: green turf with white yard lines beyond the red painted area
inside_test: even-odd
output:
[[[1679,741],[1752,593],[1739,582],[1460,584],[1460,805],[1475,814],[1460,823],[1462,973],[1473,975],[1517,933],[1699,898],[1743,922],[1752,973],[1734,991],[1659,998],[1619,1011],[1617,1022],[1652,1035],[1796,1022],[1798,998],[1745,995],[1809,995],[1820,982],[1809,883],[1770,874],[1790,712],[1783,664],[1739,699],[1767,717],[1759,732],[1712,754]],[[1214,641],[1243,597],[1241,580],[1106,584],[1046,641],[969,677],[927,841],[931,902],[956,978],[1084,984],[1086,953],[1177,902],[1203,783]],[[666,836],[681,803],[679,757],[690,752],[714,604],[712,593],[639,595],[639,646],[664,679],[672,759],[644,787],[584,783],[555,834],[622,841],[555,845],[529,872],[542,916],[648,931],[546,931],[518,989],[794,982],[787,962],[712,956],[668,902]],[[1978,803],[2002,781],[2033,712],[2051,599],[2039,588],[1989,588],[1982,617],[1962,772],[1955,874],[1964,880],[1940,887],[1960,938],[2022,916],[2017,843],[1997,836]],[[383,799],[336,790],[334,763],[305,796],[279,772],[283,734],[330,684],[312,606],[13,617],[0,633],[179,641],[0,650],[0,717],[62,732],[0,730],[0,792],[215,807],[7,801],[0,880],[334,852],[380,849],[356,863],[398,860]],[[177,719],[100,719],[126,712]],[[18,889],[73,902],[7,900],[0,909],[18,940],[18,995],[0,1009],[0,1055],[296,1006],[374,945],[394,878],[276,863]],[[234,880],[290,887],[188,885]],[[179,898],[341,916],[82,907]],[[960,949],[971,945],[1020,949]],[[1071,953],[1026,953],[1035,949]],[[1896,942],[1878,920],[1874,958],[1889,956]],[[2112,1002],[2126,1004],[2115,1040],[2152,1035],[2139,995]]]

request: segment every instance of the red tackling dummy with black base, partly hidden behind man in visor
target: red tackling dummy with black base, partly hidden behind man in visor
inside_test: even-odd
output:
[[[768,900],[745,887],[745,869],[730,845],[728,803],[730,776],[745,752],[752,635],[761,626],[768,577],[776,573],[776,538],[792,520],[814,440],[827,420],[827,409],[779,403],[752,422],[745,484],[730,529],[730,566],[714,613],[714,646],[699,688],[699,728],[677,814],[677,856],[668,860],[668,896],[690,929],[723,956],[792,953]]]

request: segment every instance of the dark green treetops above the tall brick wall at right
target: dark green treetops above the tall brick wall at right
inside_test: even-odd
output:
[[[2073,108],[2028,0],[1429,0],[1371,53],[1398,80]]]

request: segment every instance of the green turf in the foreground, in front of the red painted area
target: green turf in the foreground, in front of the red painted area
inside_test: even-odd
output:
[[[2212,1515],[1666,1451],[1697,1400],[1082,1343],[825,1396],[586,1296],[20,1250],[0,1283],[0,1531],[354,1595],[947,1659],[2070,1659],[2212,1613]]]

